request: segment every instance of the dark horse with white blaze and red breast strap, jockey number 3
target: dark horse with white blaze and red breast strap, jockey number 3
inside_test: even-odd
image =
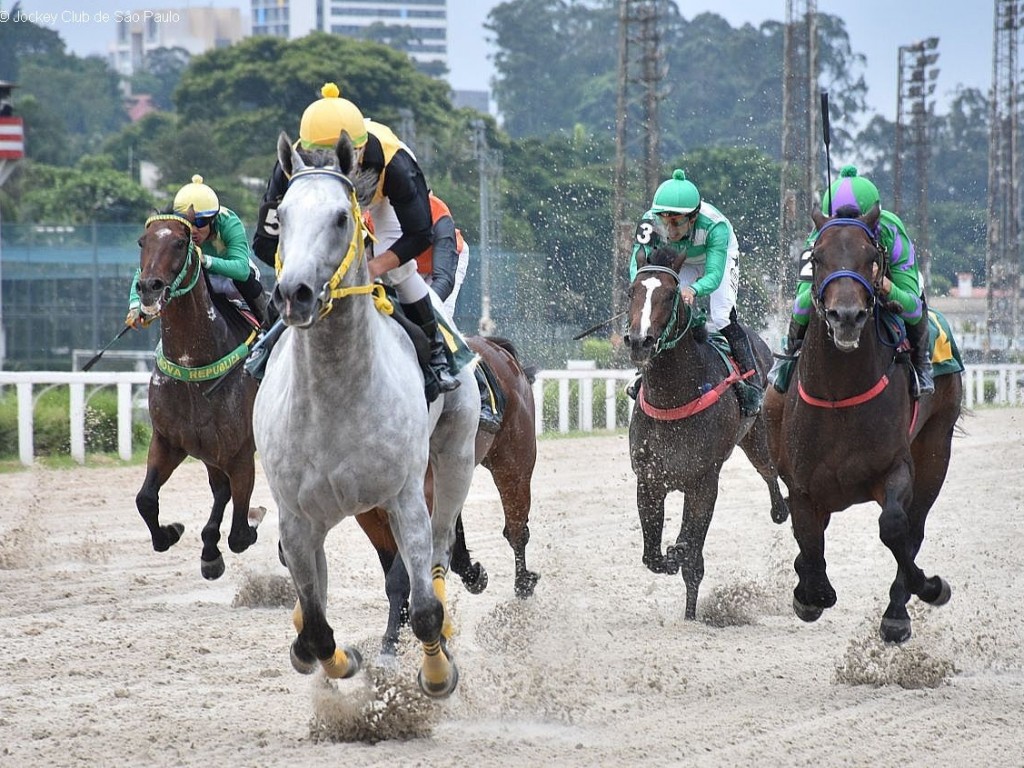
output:
[[[625,337],[642,379],[630,422],[630,456],[637,476],[637,509],[643,530],[643,563],[655,573],[682,569],[686,618],[696,617],[708,536],[722,465],[736,444],[764,478],[771,516],[788,516],[778,474],[768,453],[764,419],[742,417],[733,387],[734,364],[708,342],[702,319],[681,300],[679,268],[685,254],[663,248],[647,263],[641,254],[630,286],[630,327]],[[764,386],[771,352],[755,333],[748,336]],[[675,545],[662,553],[665,499],[683,494],[683,521]]]

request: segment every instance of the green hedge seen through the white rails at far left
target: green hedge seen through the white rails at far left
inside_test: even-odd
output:
[[[37,395],[33,419],[33,444],[36,456],[71,454],[71,390],[55,386]],[[150,427],[132,424],[132,446],[150,441]],[[101,389],[89,397],[85,407],[85,450],[111,454],[118,450],[117,392]],[[0,459],[16,458],[17,394],[9,388],[0,395]]]

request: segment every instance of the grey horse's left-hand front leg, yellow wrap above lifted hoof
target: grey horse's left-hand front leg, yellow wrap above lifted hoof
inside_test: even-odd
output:
[[[339,648],[327,622],[327,528],[284,507],[278,515],[281,552],[298,594],[292,611],[292,624],[298,633],[291,648],[292,667],[309,675],[318,662],[328,677],[351,677],[362,666],[362,657],[355,648]]]

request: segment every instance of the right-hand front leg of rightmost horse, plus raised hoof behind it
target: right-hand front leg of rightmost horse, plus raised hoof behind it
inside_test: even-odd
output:
[[[887,643],[902,643],[910,639],[910,615],[906,603],[910,595],[925,602],[943,605],[951,590],[941,577],[928,578],[916,563],[918,552],[925,538],[927,511],[910,515],[912,478],[908,464],[901,465],[886,480],[882,514],[879,515],[879,538],[896,559],[896,578],[889,588],[889,605],[882,616],[879,632]]]

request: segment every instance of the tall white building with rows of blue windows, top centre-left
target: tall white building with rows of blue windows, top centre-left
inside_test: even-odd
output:
[[[379,40],[418,65],[447,68],[447,0],[252,0],[253,35],[311,32]]]

